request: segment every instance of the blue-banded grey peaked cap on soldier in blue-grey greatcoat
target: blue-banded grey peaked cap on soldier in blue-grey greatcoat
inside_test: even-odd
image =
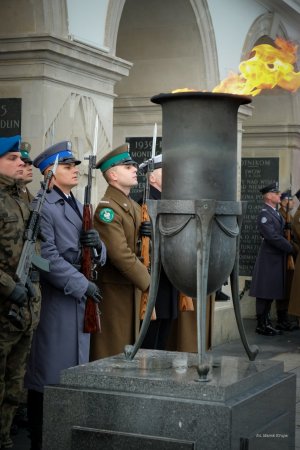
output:
[[[54,164],[58,155],[58,164],[80,164],[81,161],[76,159],[72,153],[72,143],[70,141],[62,141],[51,145],[33,160],[34,167],[40,169],[43,173],[47,167]]]

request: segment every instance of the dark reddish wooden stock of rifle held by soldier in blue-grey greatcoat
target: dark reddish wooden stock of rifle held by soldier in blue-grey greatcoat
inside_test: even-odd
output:
[[[88,231],[93,228],[93,208],[91,204],[83,206],[82,229]],[[95,264],[93,263],[92,252],[90,247],[82,248],[81,272],[88,280],[94,280]],[[90,297],[87,297],[84,312],[84,333],[100,333],[100,311],[97,303]]]

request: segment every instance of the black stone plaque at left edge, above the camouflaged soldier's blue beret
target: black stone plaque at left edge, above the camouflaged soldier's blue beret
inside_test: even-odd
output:
[[[0,99],[0,137],[21,134],[21,98]]]

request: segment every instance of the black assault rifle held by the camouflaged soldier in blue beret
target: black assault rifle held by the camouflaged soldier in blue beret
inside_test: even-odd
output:
[[[36,267],[39,270],[43,270],[44,272],[50,271],[49,261],[35,253],[35,244],[40,231],[41,210],[45,202],[46,194],[50,191],[50,184],[53,176],[55,175],[57,165],[58,156],[56,157],[53,169],[49,170],[44,182],[41,183],[43,193],[38,198],[35,208],[30,212],[30,216],[24,232],[25,242],[14,277],[16,281],[22,283],[27,287],[29,299],[34,298],[36,295],[34,286],[29,276],[32,266]],[[10,306],[7,317],[17,328],[22,329],[22,307],[19,307],[18,305],[15,305],[13,303]]]

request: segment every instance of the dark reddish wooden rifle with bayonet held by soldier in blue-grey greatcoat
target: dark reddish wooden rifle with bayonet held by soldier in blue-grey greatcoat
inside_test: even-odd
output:
[[[88,231],[93,228],[93,206],[91,204],[91,192],[92,192],[92,171],[96,167],[96,153],[97,153],[97,141],[98,141],[98,115],[96,116],[93,153],[85,158],[89,161],[88,164],[88,181],[84,190],[84,205],[83,205],[83,219],[82,229]],[[97,258],[96,249],[90,247],[82,248],[82,263],[81,272],[88,280],[96,280],[96,264],[94,258]],[[85,312],[84,312],[84,333],[100,333],[100,311],[98,305],[90,297],[86,299]]]

